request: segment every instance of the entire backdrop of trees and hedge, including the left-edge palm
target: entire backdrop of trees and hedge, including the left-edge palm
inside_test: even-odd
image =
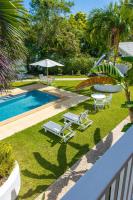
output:
[[[41,68],[31,69],[29,63],[51,58],[65,65],[50,70],[51,74],[86,74],[94,65],[93,57],[113,49],[115,61],[119,42],[132,39],[129,0],[88,14],[71,14],[72,0],[32,0],[30,13],[22,0],[0,0],[0,4],[0,81],[4,88],[13,78],[13,62],[16,58],[24,61],[26,52],[30,73],[38,74]]]

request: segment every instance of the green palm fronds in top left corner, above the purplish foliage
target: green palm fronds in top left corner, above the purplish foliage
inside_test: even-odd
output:
[[[0,48],[16,57],[26,53],[25,13],[21,0],[0,0]]]

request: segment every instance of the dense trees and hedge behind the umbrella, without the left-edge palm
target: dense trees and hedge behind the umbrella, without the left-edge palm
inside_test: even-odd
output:
[[[94,65],[91,57],[114,52],[122,40],[132,38],[133,9],[130,1],[110,4],[105,9],[70,14],[72,1],[32,0],[27,26],[27,66],[51,58],[65,64],[63,74],[85,74]],[[30,72],[40,73],[37,68]],[[60,74],[60,69],[50,73]]]

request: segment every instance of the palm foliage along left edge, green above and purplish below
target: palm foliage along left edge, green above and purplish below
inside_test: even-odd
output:
[[[0,0],[0,86],[6,89],[13,77],[12,63],[25,55],[24,14],[21,0]]]

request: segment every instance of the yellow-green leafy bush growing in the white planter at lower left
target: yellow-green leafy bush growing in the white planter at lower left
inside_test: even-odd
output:
[[[8,177],[14,167],[15,159],[9,144],[0,145],[0,179]]]

